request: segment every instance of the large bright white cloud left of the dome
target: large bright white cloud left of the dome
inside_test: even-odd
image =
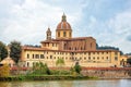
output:
[[[10,42],[13,39],[21,40],[23,44],[39,44],[45,39],[48,26],[55,30],[61,21],[62,9],[52,7],[38,0],[25,0],[23,4],[14,4],[10,10],[10,18],[5,18],[7,26],[1,34]],[[75,14],[78,16],[79,13]],[[76,18],[69,15],[68,18],[73,23]],[[3,39],[4,39],[3,38]]]

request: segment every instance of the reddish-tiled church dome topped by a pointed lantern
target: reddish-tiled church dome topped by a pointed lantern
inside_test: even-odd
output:
[[[61,22],[57,26],[57,30],[58,29],[71,29],[71,25],[67,22],[67,17],[64,14],[62,15]]]

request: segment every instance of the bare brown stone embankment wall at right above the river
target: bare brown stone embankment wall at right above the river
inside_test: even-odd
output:
[[[83,67],[82,74],[98,78],[131,78],[131,67]]]

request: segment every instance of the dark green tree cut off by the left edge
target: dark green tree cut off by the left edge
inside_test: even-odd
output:
[[[0,61],[8,57],[8,50],[5,48],[5,45],[0,41]]]

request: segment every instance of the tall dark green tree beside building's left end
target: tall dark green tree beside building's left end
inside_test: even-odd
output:
[[[19,41],[11,41],[10,44],[10,57],[17,63],[20,58],[21,58],[21,52],[22,52],[22,47],[21,47],[21,42]]]

